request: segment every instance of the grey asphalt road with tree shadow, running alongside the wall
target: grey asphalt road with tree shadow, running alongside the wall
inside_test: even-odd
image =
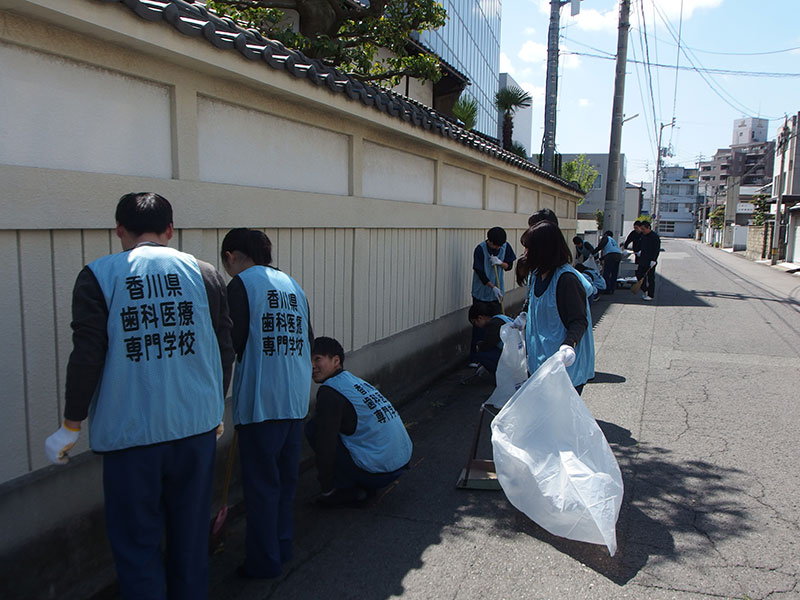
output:
[[[593,306],[598,376],[583,398],[625,483],[613,558],[548,534],[501,491],[456,489],[492,391],[461,385],[465,368],[400,411],[414,467],[367,506],[317,509],[303,474],[281,578],[236,578],[232,519],[211,597],[800,597],[800,276],[663,247],[654,302],[618,290]]]

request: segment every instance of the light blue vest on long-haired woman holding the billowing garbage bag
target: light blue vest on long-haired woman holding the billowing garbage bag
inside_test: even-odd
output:
[[[567,332],[561,317],[558,315],[558,305],[556,304],[556,289],[558,279],[566,272],[574,273],[578,281],[583,284],[585,290],[591,290],[591,285],[586,279],[581,277],[570,265],[562,265],[556,269],[550,285],[545,292],[536,297],[533,293],[534,286],[531,286],[528,323],[525,329],[526,343],[528,348],[528,371],[533,374],[544,361],[555,354]],[[531,277],[536,277],[536,272],[531,273]],[[589,321],[586,332],[580,342],[575,347],[575,362],[567,367],[572,385],[578,386],[586,383],[594,377],[594,335],[592,333],[592,313],[589,309],[589,292],[586,296],[586,318]]]

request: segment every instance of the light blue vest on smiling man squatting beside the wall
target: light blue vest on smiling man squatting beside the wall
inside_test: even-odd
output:
[[[327,385],[356,411],[356,430],[339,436],[353,462],[369,473],[391,473],[411,460],[411,438],[391,403],[372,385],[349,371],[329,377]]]

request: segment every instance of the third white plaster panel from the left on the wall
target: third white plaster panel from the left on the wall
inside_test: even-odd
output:
[[[433,204],[434,167],[429,158],[365,141],[363,194]]]

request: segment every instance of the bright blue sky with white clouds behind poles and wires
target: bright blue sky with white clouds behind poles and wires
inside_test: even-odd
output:
[[[631,182],[652,181],[658,129],[675,116],[675,128],[663,130],[662,146],[671,144],[667,164],[694,166],[717,148],[731,143],[733,121],[744,116],[769,118],[770,139],[784,114],[800,111],[800,77],[749,77],[707,74],[711,90],[695,71],[676,70],[675,37],[696,66],[706,69],[800,73],[800,1],[798,0],[632,0],[628,59],[643,60],[646,30],[651,63],[673,68],[651,69],[628,63],[625,115],[638,117],[623,126],[622,151]],[[683,17],[681,18],[681,7]],[[548,0],[503,0],[500,70],[511,73],[534,99],[533,153],[543,133],[543,103],[547,56]],[[641,12],[644,10],[645,28]],[[556,148],[568,153],[608,152],[614,60],[567,52],[613,56],[617,47],[619,8],[615,0],[583,0],[581,13],[561,9]],[[726,54],[722,54],[726,53]],[[736,54],[730,54],[736,53]],[[691,66],[681,53],[681,66]],[[652,81],[654,101],[650,100]],[[720,98],[720,95],[727,100]],[[733,106],[731,106],[733,105]],[[655,111],[652,106],[655,107]],[[655,114],[653,114],[655,112]]]

